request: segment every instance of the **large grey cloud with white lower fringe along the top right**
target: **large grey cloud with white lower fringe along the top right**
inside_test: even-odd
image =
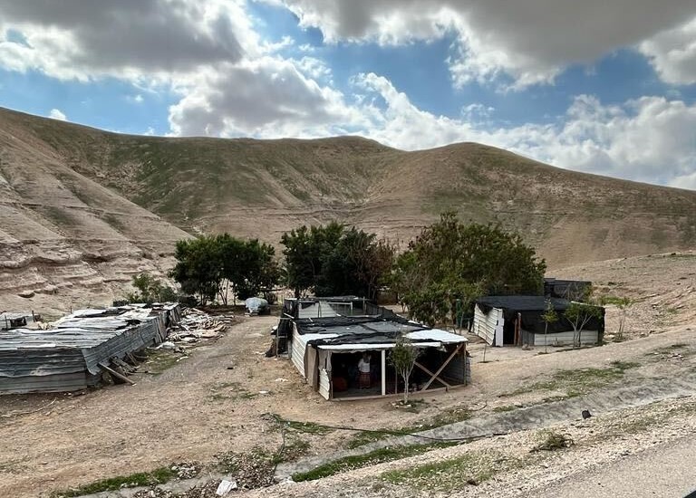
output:
[[[593,62],[696,18],[691,0],[285,0],[285,5],[302,25],[321,29],[328,43],[404,44],[453,33],[458,55],[449,63],[456,85],[505,73],[514,88],[553,81],[570,63]],[[678,50],[679,42],[694,40],[691,30],[675,38],[677,43],[661,41],[655,50],[664,45]],[[688,58],[692,61],[693,51]]]

